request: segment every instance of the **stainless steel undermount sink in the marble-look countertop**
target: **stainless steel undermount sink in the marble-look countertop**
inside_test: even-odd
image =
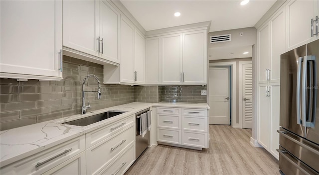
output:
[[[105,113],[101,114],[96,114],[90,117],[84,117],[82,119],[77,119],[77,120],[72,120],[70,122],[65,122],[63,124],[68,124],[68,125],[76,125],[76,126],[87,126],[95,122],[99,122],[120,114],[123,114],[125,112],[118,112],[118,111],[108,111]]]

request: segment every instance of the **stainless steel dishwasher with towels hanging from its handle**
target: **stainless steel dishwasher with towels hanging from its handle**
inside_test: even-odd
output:
[[[150,144],[150,131],[147,131],[147,133],[145,134],[144,137],[142,137],[142,135],[139,134],[139,129],[138,129],[138,120],[137,120],[137,116],[140,116],[141,114],[150,111],[151,109],[145,109],[143,111],[140,111],[138,113],[135,114],[136,116],[136,160],[141,156],[141,154],[148,148],[149,144]]]

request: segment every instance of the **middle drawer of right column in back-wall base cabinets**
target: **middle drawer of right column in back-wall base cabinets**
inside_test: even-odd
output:
[[[181,129],[188,131],[207,132],[207,117],[182,116]]]

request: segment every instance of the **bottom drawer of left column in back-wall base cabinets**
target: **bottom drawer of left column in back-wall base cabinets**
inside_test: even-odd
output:
[[[157,129],[157,141],[180,144],[180,130]]]

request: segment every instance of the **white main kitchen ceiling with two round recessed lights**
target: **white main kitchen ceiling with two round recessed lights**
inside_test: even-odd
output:
[[[252,27],[276,0],[121,0],[145,30],[211,21],[209,31]],[[175,17],[174,13],[181,13]]]

